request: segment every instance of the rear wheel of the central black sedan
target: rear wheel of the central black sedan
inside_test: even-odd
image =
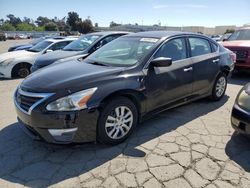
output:
[[[210,98],[213,101],[219,101],[225,95],[226,89],[227,89],[227,76],[224,73],[220,73],[214,82]]]

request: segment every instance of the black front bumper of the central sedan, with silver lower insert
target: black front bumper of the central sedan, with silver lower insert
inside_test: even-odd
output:
[[[56,144],[96,141],[97,110],[43,112],[37,106],[29,115],[17,105],[15,103],[19,125],[33,139]]]

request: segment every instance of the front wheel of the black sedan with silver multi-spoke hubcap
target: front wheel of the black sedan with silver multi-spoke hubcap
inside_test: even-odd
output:
[[[97,140],[109,145],[119,144],[129,137],[137,122],[138,111],[131,100],[126,97],[109,100],[98,119]]]

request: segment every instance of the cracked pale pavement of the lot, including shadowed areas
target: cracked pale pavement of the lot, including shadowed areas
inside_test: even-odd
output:
[[[1,53],[10,42],[16,41],[0,42]],[[12,101],[21,81],[0,80],[0,187],[250,187],[250,139],[230,124],[249,75],[232,78],[221,101],[158,114],[117,146],[31,140],[18,127]]]

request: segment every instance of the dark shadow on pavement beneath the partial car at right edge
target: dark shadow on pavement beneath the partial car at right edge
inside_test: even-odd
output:
[[[234,132],[226,145],[228,157],[250,172],[250,139],[244,135]]]

